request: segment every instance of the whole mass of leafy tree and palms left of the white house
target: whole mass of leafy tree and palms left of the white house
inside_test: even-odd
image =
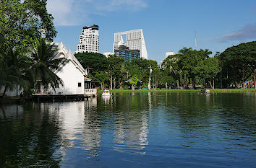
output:
[[[55,72],[66,60],[54,59],[56,50],[46,43],[56,36],[46,0],[2,0],[0,13],[0,88],[5,93],[21,86],[29,92],[38,82],[58,87]]]

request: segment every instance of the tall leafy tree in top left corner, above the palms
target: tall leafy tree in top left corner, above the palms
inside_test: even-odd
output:
[[[5,35],[5,48],[27,50],[42,32],[48,41],[56,36],[46,0],[1,0],[0,34]],[[31,49],[31,48],[30,48]]]

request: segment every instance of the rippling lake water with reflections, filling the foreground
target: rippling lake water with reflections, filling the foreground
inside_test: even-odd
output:
[[[0,167],[256,167],[256,93],[0,106]]]

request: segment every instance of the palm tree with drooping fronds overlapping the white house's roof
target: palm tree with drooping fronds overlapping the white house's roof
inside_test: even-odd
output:
[[[56,48],[53,44],[47,43],[44,38],[40,38],[30,56],[31,66],[25,73],[28,92],[30,88],[41,84],[43,87],[52,87],[54,90],[59,85],[63,86],[63,81],[55,74],[60,71],[66,58],[55,58]]]

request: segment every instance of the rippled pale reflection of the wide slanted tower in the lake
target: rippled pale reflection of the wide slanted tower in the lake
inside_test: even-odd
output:
[[[132,93],[135,94],[135,93]],[[132,102],[142,103],[140,100],[130,100],[135,97],[121,97],[119,101],[129,102],[129,107],[132,107]],[[150,94],[147,100],[142,100],[143,103],[150,107]],[[120,102],[113,102],[118,104]],[[134,105],[134,107],[137,107]],[[127,109],[121,107],[114,119],[114,149],[119,152],[129,152],[132,154],[145,154],[145,146],[148,145],[148,110],[139,111],[135,108]]]

